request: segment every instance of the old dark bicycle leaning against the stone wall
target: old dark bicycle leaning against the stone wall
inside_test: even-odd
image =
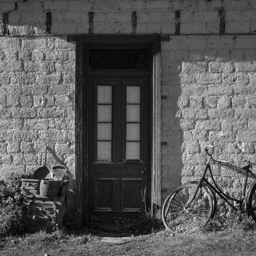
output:
[[[238,212],[239,218],[241,214],[247,213],[256,221],[256,176],[252,173],[252,163],[246,162],[243,168],[228,163],[227,161],[215,160],[212,157],[213,152],[209,152],[209,148],[214,150],[214,146],[208,145],[204,148],[208,159],[201,179],[189,182],[175,189],[167,196],[163,204],[162,220],[164,226],[168,230],[188,230],[189,228],[202,228],[214,217],[216,212],[216,195],[227,202],[235,212]],[[228,170],[232,170],[245,175],[243,191],[240,198],[233,198],[224,193],[216,184],[212,175],[211,163],[219,164]],[[212,182],[206,179],[207,171],[210,174]],[[248,193],[246,188],[248,177],[254,179]],[[232,204],[233,202],[233,204]]]

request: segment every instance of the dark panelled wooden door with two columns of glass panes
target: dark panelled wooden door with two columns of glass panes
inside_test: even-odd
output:
[[[88,210],[141,212],[148,204],[147,70],[88,71]]]

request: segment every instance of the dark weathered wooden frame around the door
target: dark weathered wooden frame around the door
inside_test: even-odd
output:
[[[75,193],[77,217],[84,223],[88,216],[87,205],[87,131],[86,131],[86,51],[89,45],[115,45],[132,47],[142,45],[150,49],[150,91],[151,91],[151,141],[150,141],[150,209],[151,214],[160,217],[161,205],[161,63],[160,63],[160,36],[129,36],[129,35],[83,35],[76,36],[76,131],[75,131]],[[83,109],[83,110],[82,110]]]

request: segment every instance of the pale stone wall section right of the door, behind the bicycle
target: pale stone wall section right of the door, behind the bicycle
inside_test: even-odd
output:
[[[163,197],[180,182],[200,178],[205,145],[215,145],[216,159],[238,165],[255,154],[255,42],[253,35],[163,42]],[[230,195],[239,193],[243,182],[236,173],[214,166],[214,175]]]

